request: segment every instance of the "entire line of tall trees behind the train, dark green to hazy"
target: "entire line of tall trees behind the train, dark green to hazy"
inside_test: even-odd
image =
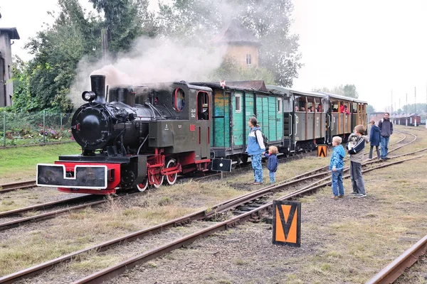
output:
[[[213,78],[238,72],[243,80],[265,78],[269,83],[292,86],[302,66],[298,36],[290,34],[291,0],[175,0],[148,10],[149,0],[88,0],[97,13],[88,13],[79,0],[58,0],[59,12],[50,13],[52,25],[39,31],[26,48],[29,62],[14,64],[14,110],[67,111],[68,94],[78,62],[102,57],[101,33],[106,31],[112,58],[126,53],[140,36],[176,38],[210,48],[209,40],[238,18],[262,43],[257,70],[241,70],[232,60],[213,72]],[[228,79],[229,80],[229,79]]]

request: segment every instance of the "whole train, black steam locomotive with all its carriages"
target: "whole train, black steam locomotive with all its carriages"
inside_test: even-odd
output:
[[[90,82],[92,90],[82,94],[87,103],[71,123],[82,153],[38,164],[37,185],[98,195],[144,191],[173,185],[178,174],[206,172],[218,161],[246,162],[252,116],[269,145],[285,155],[331,143],[332,136],[345,140],[355,125],[367,124],[367,102],[263,81],[181,81],[107,87],[107,92],[105,76],[93,75]],[[315,105],[320,110],[310,113]],[[348,114],[336,111],[344,105]]]

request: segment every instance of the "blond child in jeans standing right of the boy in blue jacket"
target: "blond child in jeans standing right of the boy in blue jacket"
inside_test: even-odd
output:
[[[350,178],[352,180],[354,197],[366,197],[367,192],[364,188],[364,180],[362,177],[362,161],[363,161],[363,152],[365,141],[368,141],[367,136],[364,136],[365,127],[362,124],[354,127],[354,133],[357,135],[358,140],[356,145],[353,148],[349,148],[347,145],[347,150],[350,154]]]

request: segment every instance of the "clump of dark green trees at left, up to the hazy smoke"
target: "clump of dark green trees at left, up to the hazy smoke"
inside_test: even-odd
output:
[[[139,35],[154,35],[154,15],[147,11],[147,0],[93,0],[105,20],[86,13],[79,0],[58,0],[60,11],[52,25],[39,31],[26,44],[34,58],[23,65],[18,62],[15,80],[25,82],[14,92],[16,108],[23,111],[52,109],[68,111],[70,86],[78,62],[85,56],[95,62],[101,56],[101,31],[108,27],[110,48],[114,54],[126,51]],[[103,10],[105,9],[105,10]]]

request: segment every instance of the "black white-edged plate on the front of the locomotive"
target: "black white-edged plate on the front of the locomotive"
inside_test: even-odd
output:
[[[74,177],[68,178],[65,165],[38,164],[36,185],[85,189],[107,188],[106,165],[75,165]]]

